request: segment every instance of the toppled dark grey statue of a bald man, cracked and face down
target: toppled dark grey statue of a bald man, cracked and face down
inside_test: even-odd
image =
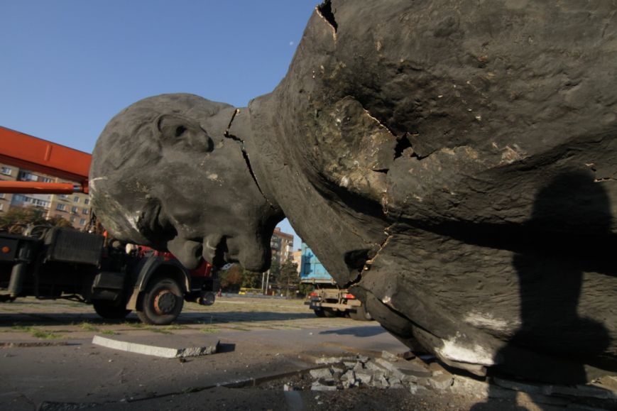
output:
[[[236,109],[114,117],[90,190],[121,239],[269,265],[291,225],[374,318],[476,374],[617,370],[617,13],[609,2],[332,0]]]

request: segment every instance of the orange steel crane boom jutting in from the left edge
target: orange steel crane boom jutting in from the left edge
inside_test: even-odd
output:
[[[19,168],[42,172],[44,174],[60,177],[65,180],[79,182],[82,192],[88,192],[88,173],[92,155],[84,153],[74,148],[60,146],[60,144],[28,136],[28,134],[11,130],[0,126],[0,162],[15,165]],[[30,190],[33,187],[26,187],[23,183],[23,190]],[[43,192],[42,187],[54,183],[38,183],[36,187],[41,187],[36,192]],[[26,191],[7,191],[18,190],[18,185],[9,187],[6,182],[0,182],[0,192],[26,192]],[[6,188],[5,188],[6,187]],[[48,190],[60,190],[58,187]],[[29,191],[32,192],[32,191]],[[75,192],[71,189],[70,192]],[[57,192],[47,191],[49,194]],[[61,194],[67,194],[62,192]]]

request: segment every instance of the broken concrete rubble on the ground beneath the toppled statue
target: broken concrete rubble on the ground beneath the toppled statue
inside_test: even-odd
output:
[[[312,369],[312,391],[352,388],[405,389],[415,395],[444,393],[479,402],[512,400],[519,404],[551,407],[617,409],[617,378],[606,376],[587,385],[536,384],[503,378],[471,378],[453,373],[436,358],[421,359],[384,351],[381,358],[368,356],[317,358]],[[286,385],[293,390],[293,386]]]

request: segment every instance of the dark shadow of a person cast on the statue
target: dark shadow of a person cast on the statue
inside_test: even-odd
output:
[[[589,363],[603,356],[611,339],[601,322],[585,315],[593,307],[589,300],[601,295],[587,295],[581,307],[581,292],[584,281],[615,275],[610,224],[608,195],[588,172],[563,173],[538,192],[512,261],[520,327],[496,354],[493,376],[564,384],[590,379]],[[489,397],[497,397],[496,390],[491,385]],[[491,409],[487,405],[474,410]]]

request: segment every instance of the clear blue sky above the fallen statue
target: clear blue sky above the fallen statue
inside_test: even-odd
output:
[[[0,125],[89,153],[143,97],[244,106],[283,78],[319,2],[0,0]]]

